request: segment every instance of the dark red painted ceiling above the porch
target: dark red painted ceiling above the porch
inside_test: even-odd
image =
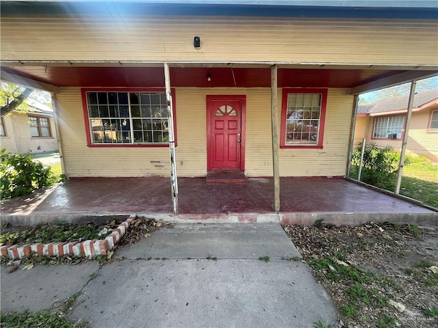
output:
[[[77,64],[75,64],[77,65]],[[172,87],[270,87],[270,66],[170,67]],[[279,68],[279,87],[348,87],[402,83],[411,77],[436,74],[436,70],[388,68]],[[159,66],[3,66],[3,76],[14,74],[57,87],[164,87]],[[211,81],[207,80],[207,76]],[[409,77],[406,79],[405,77]],[[23,79],[24,81],[24,79]],[[386,82],[387,81],[387,82]],[[13,81],[20,83],[20,81]],[[29,84],[29,83],[21,83]]]

